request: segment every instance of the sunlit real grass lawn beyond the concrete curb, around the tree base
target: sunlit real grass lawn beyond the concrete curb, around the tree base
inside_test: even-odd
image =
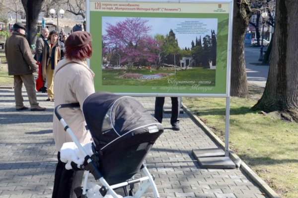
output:
[[[250,110],[262,95],[249,86],[252,97],[231,97],[229,146],[282,198],[298,196],[298,123],[278,112],[266,115]],[[188,106],[223,141],[225,99],[183,98]]]

